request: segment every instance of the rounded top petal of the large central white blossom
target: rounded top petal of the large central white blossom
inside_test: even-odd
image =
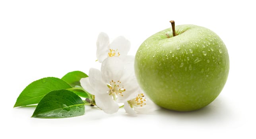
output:
[[[101,76],[105,83],[109,83],[111,80],[118,81],[122,77],[124,72],[124,64],[118,57],[108,57],[101,65]]]

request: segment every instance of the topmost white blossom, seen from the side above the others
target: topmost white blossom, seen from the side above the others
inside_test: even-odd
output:
[[[100,33],[97,39],[97,59],[103,62],[107,57],[124,57],[130,50],[131,43],[123,36],[119,36],[109,44],[109,36],[106,33]]]

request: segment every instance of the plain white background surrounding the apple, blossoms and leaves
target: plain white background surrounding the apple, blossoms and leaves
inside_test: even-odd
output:
[[[224,0],[1,0],[0,138],[255,138],[255,4]],[[99,68],[96,40],[123,35],[135,55],[147,37],[176,25],[217,33],[230,56],[227,83],[211,104],[194,112],[159,110],[137,117],[86,107],[84,116],[30,118],[35,108],[13,108],[32,81]]]

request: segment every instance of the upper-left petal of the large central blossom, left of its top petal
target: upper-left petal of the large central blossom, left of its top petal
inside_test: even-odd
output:
[[[89,70],[89,81],[91,83],[91,87],[96,91],[96,93],[107,94],[109,88],[103,82],[101,78],[101,71],[99,71],[99,69],[91,68]]]

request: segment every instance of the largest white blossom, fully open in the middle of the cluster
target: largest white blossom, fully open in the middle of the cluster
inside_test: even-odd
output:
[[[130,95],[139,87],[133,69],[134,57],[106,58],[101,71],[91,68],[89,77],[80,80],[83,89],[95,95],[96,105],[106,113],[112,114],[119,109],[118,102],[130,100]]]

